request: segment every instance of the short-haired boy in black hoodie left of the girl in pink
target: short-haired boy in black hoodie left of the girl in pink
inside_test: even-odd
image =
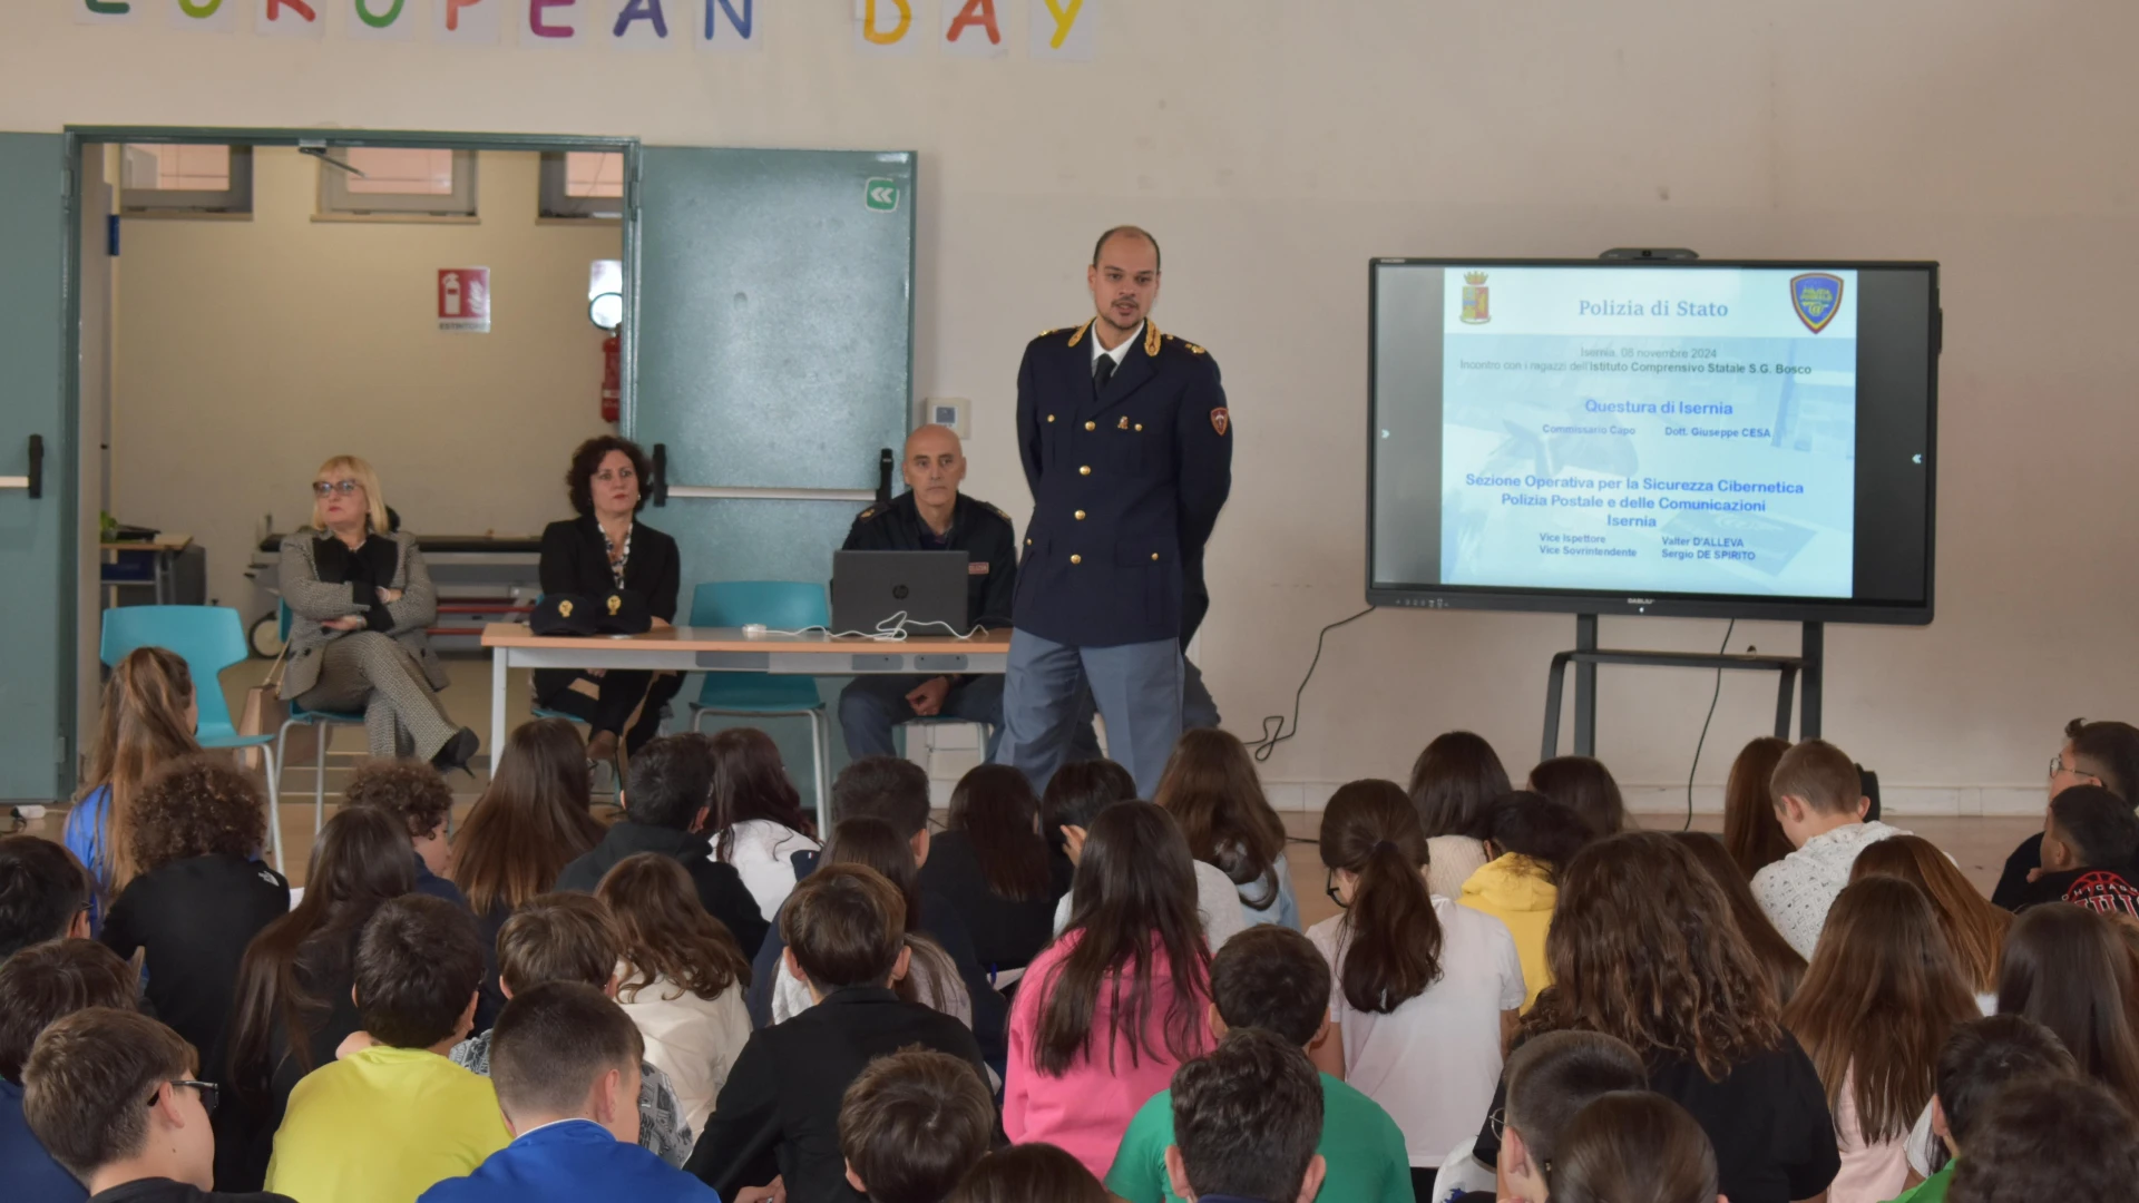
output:
[[[984,1072],[963,1023],[901,1002],[907,968],[905,899],[862,865],[826,865],[781,908],[785,972],[809,983],[815,1006],[742,1047],[721,1102],[684,1167],[721,1199],[764,1199],[779,1179],[798,1203],[860,1201],[838,1149],[838,1109],[868,1062],[911,1045],[952,1053]]]

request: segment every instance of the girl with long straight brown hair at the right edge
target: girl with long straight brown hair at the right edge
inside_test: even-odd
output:
[[[2013,920],[1998,968],[1998,1015],[2058,1034],[2079,1072],[2139,1113],[2139,970],[2109,916],[2073,903],[2032,905]]]

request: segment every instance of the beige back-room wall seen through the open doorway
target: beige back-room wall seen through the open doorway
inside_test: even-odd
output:
[[[257,527],[310,522],[334,454],[379,469],[411,531],[539,533],[601,424],[586,274],[616,225],[537,225],[537,161],[477,156],[479,225],[317,223],[319,163],[252,152],[252,220],[126,218],[113,514],[207,548],[250,621]],[[445,334],[441,268],[490,268],[490,334]]]

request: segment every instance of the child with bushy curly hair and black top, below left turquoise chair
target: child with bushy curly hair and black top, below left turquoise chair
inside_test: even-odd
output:
[[[141,950],[150,1012],[222,1072],[246,944],[289,914],[289,882],[255,861],[267,798],[227,756],[175,760],[150,777],[135,813],[139,875],[105,916],[105,944]]]

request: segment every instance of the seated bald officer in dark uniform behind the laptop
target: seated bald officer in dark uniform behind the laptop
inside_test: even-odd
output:
[[[965,612],[967,623],[1001,629],[1010,625],[1010,599],[1018,580],[1018,535],[1010,518],[958,492],[965,479],[965,450],[945,426],[922,426],[907,435],[898,473],[907,482],[886,505],[864,509],[847,531],[849,552],[967,552],[971,557]],[[943,631],[930,631],[943,634]],[[1003,734],[1003,679],[971,676],[856,676],[838,694],[838,726],[847,756],[894,756],[892,728],[924,717],[956,717],[988,724]],[[1091,724],[1078,747],[1099,756]]]

